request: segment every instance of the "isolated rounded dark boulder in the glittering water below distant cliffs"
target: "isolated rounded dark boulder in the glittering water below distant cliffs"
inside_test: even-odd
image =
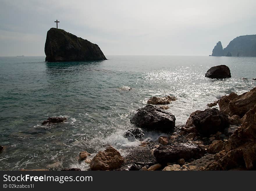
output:
[[[217,79],[231,78],[230,69],[226,65],[214,66],[207,70],[205,77]]]

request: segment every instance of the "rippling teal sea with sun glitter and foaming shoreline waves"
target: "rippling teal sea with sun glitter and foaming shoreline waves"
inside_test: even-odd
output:
[[[80,168],[79,152],[112,145],[126,156],[131,117],[153,96],[175,96],[168,110],[184,125],[195,110],[256,86],[255,57],[106,56],[108,60],[45,62],[45,56],[0,57],[0,170]],[[231,78],[205,78],[215,65]],[[218,107],[218,106],[217,106]],[[42,126],[48,117],[61,124]],[[157,140],[160,132],[145,132]],[[129,150],[129,149],[128,149]]]

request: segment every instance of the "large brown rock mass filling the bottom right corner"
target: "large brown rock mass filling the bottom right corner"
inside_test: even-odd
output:
[[[210,163],[206,170],[237,167],[256,169],[256,105],[244,115],[242,126],[231,135],[224,150],[216,154],[216,161]]]

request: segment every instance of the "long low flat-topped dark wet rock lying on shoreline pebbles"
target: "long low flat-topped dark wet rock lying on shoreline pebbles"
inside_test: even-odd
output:
[[[196,144],[164,145],[154,150],[154,156],[161,164],[176,162],[181,158],[184,160],[199,158],[204,154],[205,149]]]

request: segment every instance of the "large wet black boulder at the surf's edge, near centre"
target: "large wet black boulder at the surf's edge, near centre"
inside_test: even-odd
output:
[[[170,112],[153,105],[138,110],[130,120],[138,127],[168,132],[175,127],[175,116]]]

